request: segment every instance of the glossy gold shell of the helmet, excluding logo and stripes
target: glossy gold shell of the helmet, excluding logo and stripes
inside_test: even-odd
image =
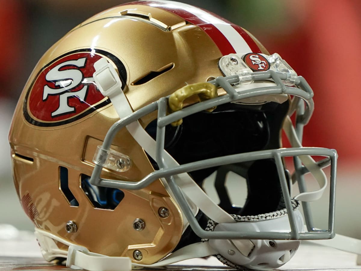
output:
[[[23,101],[39,71],[57,57],[78,49],[104,50],[122,61],[127,72],[125,93],[134,111],[183,86],[221,76],[218,60],[222,54],[200,27],[173,13],[145,5],[115,7],[78,25],[44,54],[14,113],[9,134],[14,183],[20,199],[30,195],[39,213],[34,221],[36,227],[95,253],[133,259],[132,253],[138,249],[143,259],[137,263],[157,262],[177,246],[183,231],[179,207],[160,180],[142,190],[124,191],[124,199],[114,210],[94,208],[81,189],[81,174],[91,175],[96,147],[119,119],[113,106],[109,104],[61,126],[40,127],[24,119]],[[174,67],[167,72],[144,84],[131,85],[170,63]],[[224,91],[218,89],[218,93]],[[193,95],[184,100],[183,106],[195,102],[199,97]],[[140,123],[145,127],[156,116],[157,112],[153,112]],[[125,128],[114,139],[112,149],[129,156],[132,167],[123,173],[104,169],[103,178],[138,181],[154,171],[144,150]],[[78,207],[70,206],[62,194],[60,166],[68,168],[69,188]],[[160,218],[160,207],[168,208],[168,218]],[[144,220],[143,231],[133,229],[136,218]],[[75,221],[77,232],[65,231],[69,220]],[[57,244],[60,249],[68,249]]]

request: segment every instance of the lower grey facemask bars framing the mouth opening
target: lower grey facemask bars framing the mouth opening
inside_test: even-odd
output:
[[[299,232],[296,226],[296,220],[291,206],[291,198],[288,192],[287,180],[284,175],[284,167],[282,163],[282,157],[286,156],[295,156],[300,155],[317,155],[317,156],[327,156],[331,162],[331,179],[330,179],[330,206],[329,206],[329,230],[318,230],[315,232]],[[138,182],[129,182],[129,181],[118,181],[118,180],[107,180],[102,179],[100,182],[101,186],[118,188],[118,189],[128,189],[128,190],[138,190],[143,189],[153,181],[158,180],[159,178],[165,178],[168,185],[170,186],[172,192],[174,193],[177,202],[182,208],[182,211],[187,217],[187,220],[190,222],[190,225],[193,231],[199,235],[201,238],[206,239],[291,239],[291,240],[312,240],[312,239],[323,239],[331,238],[334,224],[334,205],[335,205],[335,177],[336,177],[336,152],[334,150],[325,149],[325,148],[315,148],[315,147],[303,147],[303,148],[287,148],[287,149],[276,149],[276,150],[265,150],[257,152],[248,152],[243,154],[228,155],[218,158],[212,158],[202,161],[197,161],[189,164],[179,165],[178,167],[172,168],[163,168],[155,172],[150,173],[148,176],[144,177]],[[275,232],[209,232],[204,231],[195,220],[194,215],[188,206],[187,200],[183,195],[182,189],[177,185],[174,176],[186,172],[191,172],[199,169],[204,169],[208,167],[216,167],[219,165],[231,164],[246,162],[250,160],[260,160],[260,159],[275,159],[278,174],[280,176],[280,184],[282,187],[282,193],[286,204],[286,209],[288,212],[288,219],[290,220],[290,225],[292,231],[290,233],[275,233]],[[323,164],[321,164],[323,165]]]

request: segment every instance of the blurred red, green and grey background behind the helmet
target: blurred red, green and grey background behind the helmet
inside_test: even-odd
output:
[[[304,146],[339,153],[336,232],[361,238],[361,1],[181,0],[251,31],[312,86]],[[42,54],[86,18],[122,0],[0,0],[0,224],[32,230],[12,184],[7,134]],[[323,210],[324,211],[324,210]],[[319,212],[316,220],[326,214]]]

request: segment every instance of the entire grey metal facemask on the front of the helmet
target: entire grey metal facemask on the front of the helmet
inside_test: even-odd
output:
[[[165,136],[165,126],[171,122],[177,121],[183,117],[191,115],[193,113],[212,108],[224,103],[230,103],[232,101],[249,98],[259,95],[268,95],[268,94],[288,94],[294,95],[302,98],[306,103],[306,109],[304,113],[300,113],[297,117],[297,123],[302,125],[306,124],[313,112],[313,101],[312,89],[309,87],[308,83],[303,77],[297,77],[295,87],[285,86],[282,80],[287,79],[287,74],[281,72],[274,72],[273,70],[268,70],[266,72],[255,72],[253,73],[254,80],[273,80],[277,86],[272,87],[259,87],[256,89],[251,89],[250,91],[239,91],[237,92],[231,84],[239,83],[238,76],[227,76],[227,77],[218,77],[215,80],[210,81],[217,87],[222,87],[227,94],[193,104],[187,108],[181,109],[180,111],[166,115],[167,112],[167,99],[168,97],[163,97],[160,100],[145,106],[144,108],[135,111],[134,113],[124,117],[123,119],[117,121],[110,127],[108,130],[103,145],[101,147],[103,152],[99,152],[99,155],[106,154],[110,149],[110,145],[113,141],[113,138],[116,136],[118,131],[125,127],[126,125],[131,124],[134,121],[142,118],[143,116],[158,110],[158,122],[157,122],[157,139],[156,139],[156,162],[160,166],[160,169],[150,173],[148,176],[145,176],[142,180],[138,182],[131,181],[119,181],[119,180],[110,180],[100,178],[103,165],[101,163],[96,163],[90,183],[98,186],[106,186],[111,188],[118,189],[129,189],[129,190],[138,190],[146,187],[151,182],[158,180],[159,178],[165,178],[168,182],[168,185],[171,191],[174,193],[176,200],[179,203],[182,211],[186,215],[193,231],[201,238],[206,239],[292,239],[292,240],[315,240],[315,239],[328,239],[334,236],[334,208],[335,208],[335,177],[336,177],[336,151],[325,148],[288,148],[288,149],[278,149],[278,150],[265,150],[257,152],[248,152],[243,154],[228,155],[213,159],[206,159],[203,161],[197,161],[190,164],[179,165],[177,167],[168,167],[164,159],[164,136]],[[328,156],[331,160],[331,188],[330,188],[330,206],[329,206],[329,229],[327,231],[318,231],[318,232],[299,232],[296,227],[295,217],[293,215],[290,194],[288,192],[288,186],[286,181],[286,176],[284,174],[284,168],[282,163],[282,157],[284,156],[298,156],[298,155],[319,155],[319,156]],[[286,208],[288,211],[288,218],[290,220],[291,232],[210,232],[205,231],[200,227],[196,221],[190,206],[187,203],[186,198],[184,197],[181,188],[175,182],[175,175],[195,171],[198,169],[214,167],[223,164],[236,163],[236,162],[245,162],[249,160],[258,160],[258,159],[275,159],[278,173],[280,176],[280,183],[282,187],[283,197],[285,199]],[[106,160],[106,158],[97,157],[96,161]]]

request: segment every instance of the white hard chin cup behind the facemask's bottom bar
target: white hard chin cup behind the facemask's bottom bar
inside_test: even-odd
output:
[[[303,217],[299,210],[294,211],[297,229],[303,231]],[[290,232],[290,223],[288,216],[282,216],[276,219],[238,222],[238,223],[221,223],[218,224],[214,231],[237,231],[237,232]],[[230,261],[239,266],[255,269],[270,270],[279,268],[288,262],[298,249],[299,240],[251,240],[255,245],[252,252],[245,256],[236,247],[237,240],[216,240],[210,239],[209,244],[213,249]],[[220,259],[220,261],[222,261]],[[223,262],[223,261],[222,261]],[[223,262],[225,263],[225,262]]]

